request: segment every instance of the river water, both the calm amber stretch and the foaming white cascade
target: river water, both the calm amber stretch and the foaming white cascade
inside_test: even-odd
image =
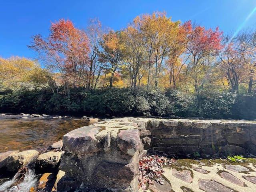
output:
[[[9,150],[43,150],[52,143],[62,140],[64,134],[90,124],[85,119],[74,117],[58,118],[42,116],[21,118],[22,115],[0,116],[0,152]],[[36,190],[38,178],[34,170],[28,168],[24,180],[0,178],[0,192],[30,192]]]

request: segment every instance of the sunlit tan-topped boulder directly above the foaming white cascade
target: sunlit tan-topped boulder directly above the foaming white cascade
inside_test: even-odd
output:
[[[21,166],[29,164],[37,155],[38,151],[36,150],[26,150],[10,155],[7,159],[6,168],[8,171],[16,171]]]

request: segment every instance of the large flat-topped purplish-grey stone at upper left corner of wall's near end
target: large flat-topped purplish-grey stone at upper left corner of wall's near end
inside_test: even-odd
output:
[[[67,133],[63,136],[63,149],[79,155],[91,155],[103,150],[95,138],[100,129],[96,126],[84,126]]]

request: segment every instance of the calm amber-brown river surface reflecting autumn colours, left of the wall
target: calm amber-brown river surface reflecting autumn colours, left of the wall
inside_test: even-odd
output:
[[[88,124],[75,118],[0,118],[0,152],[40,150],[62,140],[67,132]]]

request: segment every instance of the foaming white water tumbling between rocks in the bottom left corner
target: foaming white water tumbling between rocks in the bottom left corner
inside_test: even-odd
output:
[[[37,177],[34,171],[28,169],[23,182],[14,186],[16,182],[14,178],[16,178],[17,174],[11,180],[4,182],[0,186],[0,192],[29,192],[32,187],[36,188]]]

